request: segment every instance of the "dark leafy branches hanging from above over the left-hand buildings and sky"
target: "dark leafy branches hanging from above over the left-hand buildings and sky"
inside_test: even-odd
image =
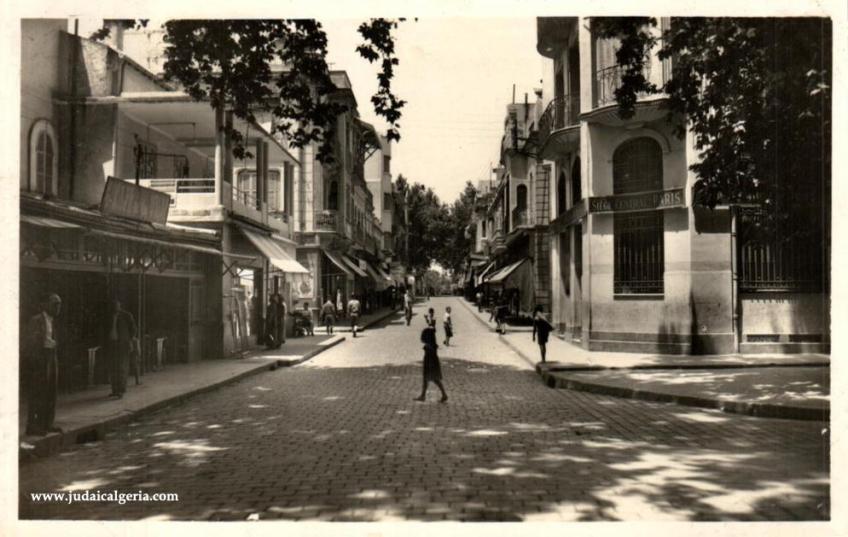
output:
[[[403,19],[399,19],[403,20]],[[146,26],[147,21],[121,20],[124,26]],[[405,101],[391,90],[398,59],[392,31],[398,21],[371,19],[358,31],[363,38],[357,52],[369,62],[380,61],[378,90],[371,98],[374,111],[389,123],[387,137],[399,140],[401,109]],[[197,100],[215,109],[255,121],[254,111],[272,113],[272,128],[294,146],[319,144],[318,158],[333,160],[332,129],[345,111],[328,99],[335,91],[327,66],[327,36],[314,19],[171,20],[162,25],[166,47],[164,76]],[[92,35],[103,39],[104,26]],[[273,69],[274,64],[284,66]],[[226,128],[226,127],[225,127]],[[228,129],[233,152],[250,156],[241,133]]]

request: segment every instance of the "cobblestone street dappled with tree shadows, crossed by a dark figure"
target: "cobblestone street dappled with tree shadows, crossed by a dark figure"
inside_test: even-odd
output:
[[[420,388],[428,305],[453,305],[447,404]],[[441,329],[440,329],[441,330]],[[528,335],[529,337],[529,335]],[[300,366],[24,465],[22,518],[793,520],[829,516],[824,424],[544,387],[458,299]],[[176,503],[33,504],[28,493],[176,492]]]

